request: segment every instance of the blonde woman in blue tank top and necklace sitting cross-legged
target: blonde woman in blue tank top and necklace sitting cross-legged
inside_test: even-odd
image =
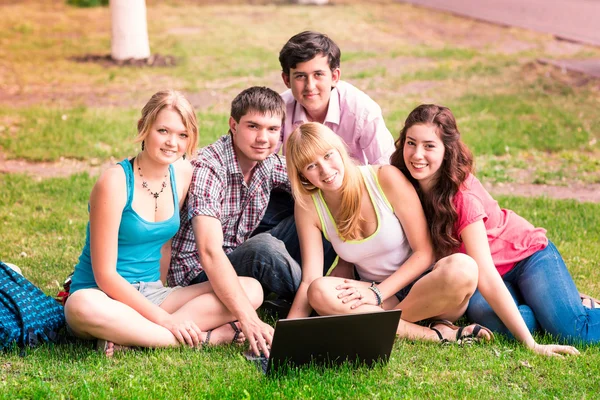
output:
[[[244,339],[209,282],[169,288],[160,280],[192,177],[192,166],[180,158],[191,155],[197,140],[191,104],[179,92],[158,92],[138,122],[142,151],[108,168],[92,190],[86,243],[65,316],[75,335],[98,339],[108,356],[128,346],[196,347]],[[164,278],[166,269],[162,272]],[[258,307],[258,281],[240,281]]]

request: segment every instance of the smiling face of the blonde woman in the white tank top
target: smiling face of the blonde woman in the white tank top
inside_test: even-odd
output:
[[[323,192],[335,192],[344,181],[344,161],[334,148],[318,155],[300,170],[302,176]]]

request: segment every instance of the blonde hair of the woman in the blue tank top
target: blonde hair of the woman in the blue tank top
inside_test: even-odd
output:
[[[185,129],[190,135],[185,154],[191,157],[198,145],[198,120],[196,119],[194,107],[181,92],[176,90],[161,90],[152,95],[142,109],[142,117],[138,121],[138,135],[134,142],[139,143],[146,139],[158,113],[163,108],[170,108],[181,116],[183,125],[185,125]]]

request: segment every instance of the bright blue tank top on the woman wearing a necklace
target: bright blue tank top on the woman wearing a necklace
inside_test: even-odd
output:
[[[173,166],[169,166],[174,213],[160,222],[144,220],[131,207],[133,201],[133,167],[125,159],[119,163],[127,181],[127,203],[121,216],[118,237],[117,272],[129,283],[155,282],[160,279],[160,249],[179,229],[179,199]],[[71,293],[79,289],[98,287],[90,257],[90,223],[87,224],[85,246],[75,266]]]

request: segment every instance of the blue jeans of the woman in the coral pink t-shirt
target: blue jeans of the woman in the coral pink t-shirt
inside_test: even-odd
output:
[[[566,343],[600,343],[600,308],[581,304],[575,283],[552,242],[518,262],[502,279],[530,332],[540,329]],[[467,318],[512,337],[479,290],[471,297]]]

